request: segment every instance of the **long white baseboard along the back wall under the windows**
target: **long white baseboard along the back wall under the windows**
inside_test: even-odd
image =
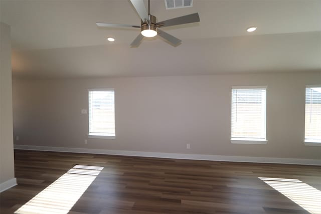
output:
[[[66,148],[52,146],[30,146],[14,145],[15,149],[36,150],[36,151],[58,151],[58,152],[75,152],[88,154],[110,154],[123,156],[140,156],[140,157],[161,157],[173,159],[190,159],[190,160],[214,160],[229,162],[251,162],[251,163],[283,163],[283,164],[300,164],[300,165],[321,165],[321,159],[299,159],[299,158],[279,158],[279,157],[246,157],[246,156],[225,156],[225,155],[207,155],[207,154],[183,154],[183,153],[164,153],[164,152],[147,152],[147,151],[128,151],[128,150],[108,150],[108,149],[85,149],[85,148]]]

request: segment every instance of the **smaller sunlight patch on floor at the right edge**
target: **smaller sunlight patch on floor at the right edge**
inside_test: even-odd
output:
[[[321,214],[321,191],[298,180],[259,177],[293,202],[312,214]]]

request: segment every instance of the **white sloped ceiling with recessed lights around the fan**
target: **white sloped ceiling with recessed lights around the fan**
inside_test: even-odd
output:
[[[321,71],[320,0],[194,0],[192,8],[176,10],[166,10],[163,0],[151,0],[150,12],[158,21],[198,12],[201,22],[163,29],[183,41],[178,47],[156,38],[144,39],[138,48],[129,45],[139,29],[95,25],[139,25],[127,0],[0,1],[1,21],[12,28],[15,75]],[[250,26],[257,31],[247,33]]]

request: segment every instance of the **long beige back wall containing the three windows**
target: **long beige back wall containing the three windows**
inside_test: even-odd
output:
[[[303,144],[306,84],[321,84],[321,74],[15,79],[15,144],[321,159],[321,147]],[[230,143],[231,86],[239,85],[268,86],[267,145]],[[115,140],[84,144],[88,88],[115,88]]]

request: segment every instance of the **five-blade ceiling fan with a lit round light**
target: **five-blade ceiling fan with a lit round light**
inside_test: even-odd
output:
[[[156,17],[150,14],[150,0],[148,0],[148,14],[143,0],[130,0],[131,4],[134,6],[137,14],[141,19],[140,26],[135,25],[124,25],[124,24],[111,24],[111,23],[96,23],[98,27],[109,27],[109,28],[140,28],[140,34],[134,39],[130,44],[131,46],[139,46],[141,40],[144,37],[155,37],[156,35],[162,37],[167,42],[173,46],[178,46],[182,42],[178,38],[159,30],[159,28],[182,25],[188,23],[200,22],[200,17],[198,13],[190,14],[182,17],[177,17],[170,20],[165,20],[162,22],[157,22]]]

